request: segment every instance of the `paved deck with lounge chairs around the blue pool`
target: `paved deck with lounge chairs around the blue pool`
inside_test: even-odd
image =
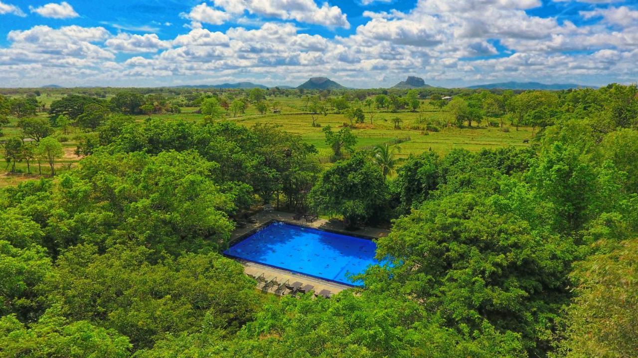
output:
[[[246,223],[246,227],[239,227],[230,237],[230,242],[234,243],[242,236],[250,233],[251,231],[258,229],[263,224],[271,220],[278,220],[283,222],[288,222],[290,224],[315,227],[316,229],[322,229],[327,231],[335,231],[338,233],[353,235],[353,236],[367,236],[371,238],[381,238],[383,236],[387,236],[389,233],[388,230],[379,229],[377,227],[366,227],[364,229],[359,229],[357,231],[348,231],[344,229],[343,224],[341,222],[324,220],[322,218],[317,218],[313,222],[306,222],[304,218],[301,220],[293,219],[293,213],[285,213],[283,211],[261,211],[251,217],[254,222]],[[241,259],[236,259],[237,262],[241,263],[244,266],[244,272],[247,275],[251,276],[260,276],[263,275],[267,278],[276,278],[277,282],[302,282],[304,285],[309,284],[315,287],[315,292],[320,292],[321,290],[329,290],[332,294],[337,294],[345,289],[352,289],[352,287],[348,285],[341,285],[336,282],[330,282],[326,280],[321,280],[319,278],[310,277],[306,275],[301,275],[299,273],[293,273],[291,271],[286,271],[285,269],[273,268],[271,266],[266,266],[262,264],[257,264],[255,262],[245,261]],[[276,294],[273,289],[260,289],[262,292],[270,292]]]

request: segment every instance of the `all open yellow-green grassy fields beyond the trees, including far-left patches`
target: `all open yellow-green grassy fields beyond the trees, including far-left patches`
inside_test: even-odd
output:
[[[61,96],[43,94],[39,97],[39,100],[47,106]],[[261,124],[276,124],[281,126],[281,129],[299,134],[308,143],[315,145],[318,148],[320,159],[325,162],[325,159],[330,155],[330,148],[325,144],[322,127],[330,125],[333,129],[338,130],[339,127],[348,122],[343,114],[329,113],[327,116],[320,116],[317,122],[322,127],[313,127],[311,115],[304,112],[305,103],[304,100],[299,97],[277,97],[276,101],[279,101],[281,106],[281,113],[266,113],[265,115],[259,114],[254,106],[248,106],[246,113],[232,117],[232,113],[228,113],[223,120],[230,120],[237,122],[238,124],[246,125],[248,127],[261,123]],[[165,113],[152,115],[152,117],[163,118],[165,120],[188,120],[197,122],[203,120],[201,114],[195,113],[197,108],[185,107],[182,108],[182,113]],[[497,127],[487,127],[486,123],[480,124],[478,127],[471,128],[457,128],[446,127],[447,122],[452,121],[452,115],[443,110],[439,110],[436,107],[430,106],[426,102],[422,103],[419,112],[400,111],[397,113],[390,113],[387,111],[378,111],[374,113],[372,123],[370,121],[370,111],[364,107],[366,112],[366,120],[363,124],[357,124],[353,128],[353,133],[357,136],[357,148],[371,147],[376,144],[389,142],[396,138],[404,138],[409,140],[400,144],[401,156],[407,156],[410,154],[420,154],[426,150],[432,149],[441,155],[447,154],[454,148],[465,148],[471,151],[477,151],[481,148],[498,148],[507,147],[510,145],[516,147],[525,147],[527,144],[523,144],[524,139],[531,138],[531,129],[526,127],[520,127],[518,131],[514,127],[508,128],[509,131],[501,131]],[[38,116],[47,117],[47,113],[38,113]],[[146,115],[137,116],[139,120],[144,120]],[[394,128],[394,118],[401,118],[400,129]],[[425,124],[436,124],[440,131],[426,131]],[[20,128],[17,127],[17,120],[13,118],[10,124],[3,127],[4,138],[11,136],[20,136]],[[54,134],[57,138],[66,137],[66,141],[63,142],[65,155],[64,158],[57,162],[56,171],[61,173],[64,170],[68,170],[77,165],[80,160],[73,150],[77,146],[75,137],[80,134],[80,129],[71,128],[70,132],[63,135],[58,129]],[[4,150],[0,150],[0,160],[4,161]],[[6,165],[6,164],[5,164]],[[42,168],[43,175],[49,174],[48,167]],[[1,168],[0,173],[8,171],[8,168]],[[37,175],[27,175],[27,165],[24,162],[17,164],[18,173],[4,173],[0,175],[0,187],[6,185],[14,185],[21,180],[29,178],[36,178]],[[31,166],[31,173],[38,173],[37,164],[34,162]]]

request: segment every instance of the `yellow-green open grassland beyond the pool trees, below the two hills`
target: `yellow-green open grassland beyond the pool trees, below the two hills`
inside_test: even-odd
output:
[[[325,144],[322,127],[330,125],[333,130],[338,131],[339,127],[343,127],[343,124],[348,122],[345,116],[339,113],[329,113],[327,116],[320,115],[317,122],[322,127],[313,127],[311,115],[302,111],[304,108],[302,99],[278,98],[277,100],[281,103],[281,113],[260,115],[253,106],[249,106],[246,113],[237,117],[232,117],[232,113],[229,113],[225,120],[248,127],[258,123],[280,125],[285,131],[299,134],[308,143],[315,145],[319,150],[320,157],[329,156],[330,148]],[[485,124],[481,124],[480,127],[464,127],[462,129],[446,128],[445,124],[452,121],[452,115],[449,112],[438,110],[438,108],[426,103],[423,103],[421,108],[422,110],[418,113],[380,111],[375,113],[372,124],[370,124],[370,111],[364,107],[365,123],[357,124],[357,128],[353,129],[353,133],[359,138],[357,148],[369,147],[395,138],[409,137],[409,141],[400,144],[401,155],[420,154],[429,148],[443,155],[454,148],[478,151],[481,148],[507,147],[509,145],[525,147],[528,144],[523,144],[523,140],[531,138],[531,128],[526,127],[519,127],[519,131],[511,127],[509,132],[503,132],[496,127],[486,127]],[[153,115],[153,117],[167,120],[177,118],[193,121],[202,120],[202,115],[193,113],[195,110],[197,108],[182,108],[182,113],[179,114],[167,113]],[[142,120],[146,116],[138,117]],[[393,119],[396,117],[401,118],[401,129],[394,129]],[[443,125],[439,132],[424,131],[422,129],[424,122],[438,122]]]

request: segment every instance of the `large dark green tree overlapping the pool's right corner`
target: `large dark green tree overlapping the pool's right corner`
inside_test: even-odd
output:
[[[567,273],[577,250],[570,238],[534,232],[480,194],[427,200],[378,240],[377,257],[392,257],[392,287],[438,312],[454,329],[521,334],[531,356],[543,354],[568,303]],[[462,328],[464,327],[464,328]]]

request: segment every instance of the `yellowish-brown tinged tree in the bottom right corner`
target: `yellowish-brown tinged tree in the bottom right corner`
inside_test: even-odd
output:
[[[560,356],[633,357],[638,352],[638,240],[576,266],[577,296],[567,309]]]

